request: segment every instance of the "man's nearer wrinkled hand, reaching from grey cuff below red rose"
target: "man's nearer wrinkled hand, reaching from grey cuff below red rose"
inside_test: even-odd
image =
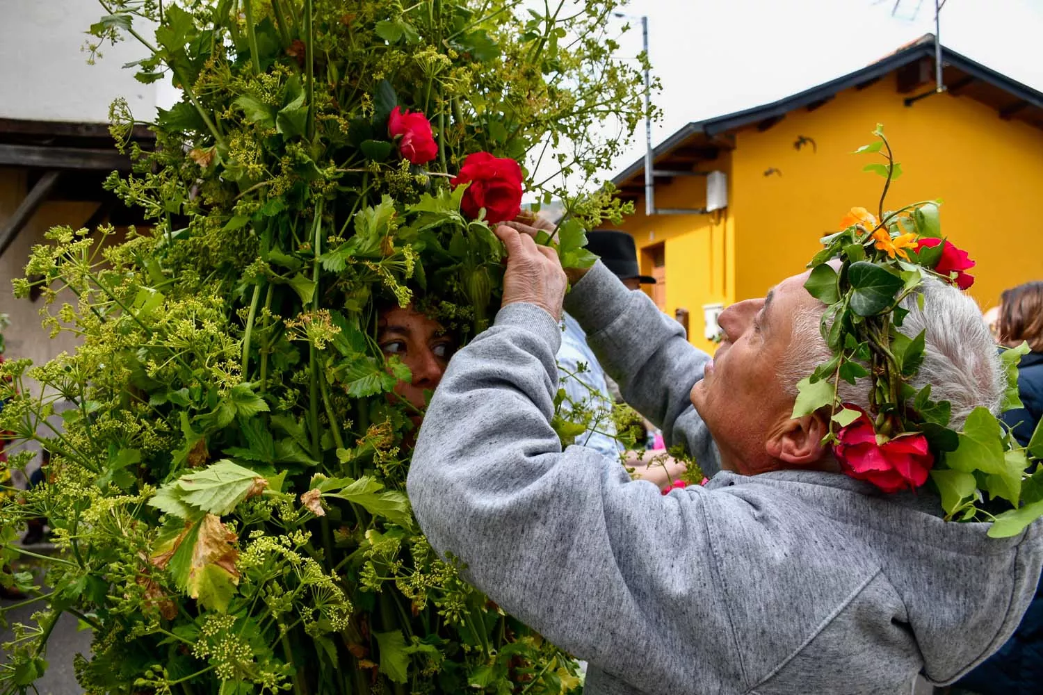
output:
[[[539,246],[531,234],[518,231],[515,225],[498,226],[496,237],[507,247],[501,306],[515,302],[536,304],[555,321],[560,321],[561,302],[568,280],[561,269],[557,251],[550,246]]]

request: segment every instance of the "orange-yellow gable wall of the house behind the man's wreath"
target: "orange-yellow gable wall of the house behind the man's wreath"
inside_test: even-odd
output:
[[[1004,289],[1043,279],[1043,131],[1003,121],[968,97],[940,94],[905,106],[894,74],[823,106],[791,111],[760,132],[736,133],[730,214],[735,220],[733,299],[762,296],[801,272],[854,205],[874,214],[883,179],[864,173],[879,155],[851,154],[874,139],[876,123],[901,163],[884,209],[940,198],[942,231],[977,266],[970,294],[983,308]],[[814,139],[817,151],[794,147]],[[780,174],[766,176],[775,169]],[[668,273],[673,269],[668,257]]]

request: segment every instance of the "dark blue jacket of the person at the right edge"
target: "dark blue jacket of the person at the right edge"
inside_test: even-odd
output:
[[[1029,352],[1018,364],[1018,395],[1024,407],[1004,413],[1003,422],[1017,425],[1014,437],[1024,446],[1043,417],[1043,352]],[[1043,584],[1014,637],[957,685],[981,695],[1043,690]]]

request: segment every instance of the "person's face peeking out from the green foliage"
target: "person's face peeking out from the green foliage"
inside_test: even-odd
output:
[[[423,411],[427,397],[445,373],[457,342],[442,325],[412,305],[391,306],[381,312],[377,343],[388,357],[397,357],[409,367],[412,377],[398,381],[394,393],[418,411]],[[413,416],[419,423],[420,415]]]

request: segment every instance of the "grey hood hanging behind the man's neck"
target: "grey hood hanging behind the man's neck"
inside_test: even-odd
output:
[[[956,680],[1002,646],[1036,592],[1043,565],[1040,522],[1019,536],[989,538],[991,524],[943,520],[941,500],[926,488],[889,495],[838,473],[726,472],[709,487],[727,485],[737,495],[760,485],[782,489],[777,492],[784,490],[790,504],[806,504],[824,523],[844,524],[845,537],[860,546],[846,550],[873,559],[904,604],[931,682]]]

